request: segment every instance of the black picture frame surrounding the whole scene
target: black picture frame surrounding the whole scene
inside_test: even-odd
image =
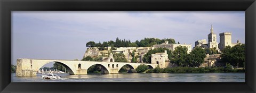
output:
[[[0,92],[255,92],[255,0],[1,0]],[[245,11],[245,82],[11,82],[11,11]]]

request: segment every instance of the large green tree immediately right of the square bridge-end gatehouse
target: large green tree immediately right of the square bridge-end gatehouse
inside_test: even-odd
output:
[[[178,46],[175,47],[175,50],[173,50],[171,62],[178,64],[179,66],[188,66],[187,60],[187,48],[185,46]]]

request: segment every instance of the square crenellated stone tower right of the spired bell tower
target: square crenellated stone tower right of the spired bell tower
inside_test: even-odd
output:
[[[222,32],[220,33],[220,50],[223,50],[226,46],[232,47],[231,43],[231,32]]]

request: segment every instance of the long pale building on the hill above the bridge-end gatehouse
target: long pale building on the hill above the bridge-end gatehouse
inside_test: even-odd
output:
[[[170,49],[172,50],[175,50],[175,47],[178,47],[178,46],[184,46],[186,47],[188,50],[187,50],[187,53],[189,54],[191,52],[191,44],[169,44],[168,41],[166,41],[165,43],[161,44],[161,45],[153,45],[153,47],[155,48],[167,48],[167,49]]]

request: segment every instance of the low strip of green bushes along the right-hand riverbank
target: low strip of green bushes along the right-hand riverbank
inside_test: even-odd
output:
[[[236,69],[229,67],[172,67],[161,69],[156,67],[155,69],[148,69],[146,73],[234,73],[245,72],[245,69]]]

